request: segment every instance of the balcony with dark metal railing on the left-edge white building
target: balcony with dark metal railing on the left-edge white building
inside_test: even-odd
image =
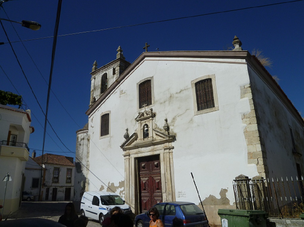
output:
[[[16,157],[21,161],[27,161],[29,159],[29,147],[26,143],[2,140],[0,142],[0,155]]]

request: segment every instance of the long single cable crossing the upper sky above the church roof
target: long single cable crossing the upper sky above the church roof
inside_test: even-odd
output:
[[[79,34],[90,33],[90,32],[101,32],[101,31],[118,29],[118,28],[127,28],[127,27],[139,26],[139,25],[155,24],[155,23],[161,23],[161,22],[168,22],[168,21],[175,21],[175,20],[181,20],[181,19],[187,19],[187,18],[208,16],[208,15],[219,14],[219,13],[235,12],[235,11],[241,11],[241,10],[245,10],[245,9],[262,8],[262,7],[267,7],[267,6],[282,5],[282,4],[286,4],[286,3],[301,2],[301,1],[303,1],[303,0],[294,0],[294,1],[288,1],[288,2],[272,3],[272,4],[267,4],[267,5],[250,6],[250,7],[239,8],[239,9],[230,9],[230,10],[224,10],[224,11],[218,11],[218,12],[212,12],[212,13],[204,13],[204,14],[199,14],[199,15],[192,15],[192,16],[165,19],[165,20],[160,20],[160,21],[144,22],[144,23],[138,23],[138,24],[133,24],[133,25],[123,25],[123,26],[117,26],[117,27],[112,27],[112,28],[102,28],[102,29],[86,31],[86,32],[75,32],[75,33],[70,33],[70,34],[58,35],[57,37],[69,36],[69,35],[79,35]],[[33,41],[33,40],[53,38],[53,37],[54,36],[47,36],[47,37],[42,37],[42,38],[33,38],[33,39],[26,39],[26,40],[22,40],[22,41],[13,41],[11,43],[26,42],[26,41]],[[6,43],[8,43],[8,42],[5,42],[4,44],[6,44]]]

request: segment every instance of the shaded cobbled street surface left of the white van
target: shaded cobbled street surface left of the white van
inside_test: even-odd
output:
[[[9,219],[20,218],[44,218],[58,222],[64,214],[65,206],[68,202],[22,202],[21,207],[16,212],[8,216]],[[79,214],[78,214],[79,215]],[[6,215],[3,215],[3,220]],[[87,227],[101,227],[98,221],[89,219]]]

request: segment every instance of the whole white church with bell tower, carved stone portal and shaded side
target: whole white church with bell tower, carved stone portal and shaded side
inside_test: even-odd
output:
[[[114,191],[135,214],[160,201],[199,204],[192,172],[216,222],[218,208],[234,207],[236,176],[302,175],[302,117],[237,37],[233,44],[144,52],[132,64],[119,47],[116,60],[94,62],[88,127],[77,132],[85,190]]]

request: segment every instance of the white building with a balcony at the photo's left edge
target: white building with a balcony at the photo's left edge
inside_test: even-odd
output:
[[[30,110],[0,105],[0,204],[3,214],[21,205],[25,163],[29,158],[29,135],[34,132]],[[2,181],[9,173],[11,181]],[[5,190],[6,185],[6,190]]]

